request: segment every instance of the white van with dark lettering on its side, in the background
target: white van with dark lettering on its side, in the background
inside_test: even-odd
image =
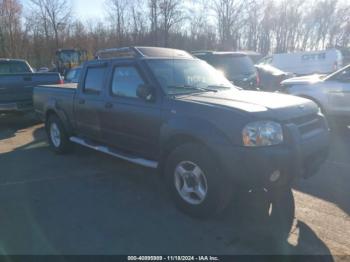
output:
[[[330,74],[343,66],[343,56],[337,49],[312,52],[273,54],[258,64],[272,65],[297,75]]]

